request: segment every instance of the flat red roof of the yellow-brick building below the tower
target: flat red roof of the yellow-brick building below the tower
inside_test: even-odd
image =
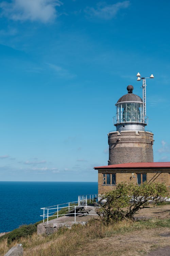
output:
[[[129,169],[129,168],[170,168],[170,162],[144,162],[144,163],[120,163],[119,165],[106,165],[94,167],[94,169]]]

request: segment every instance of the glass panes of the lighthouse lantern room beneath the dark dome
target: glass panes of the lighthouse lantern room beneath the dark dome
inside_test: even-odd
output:
[[[143,123],[142,106],[142,102],[122,102],[117,104],[116,123]]]

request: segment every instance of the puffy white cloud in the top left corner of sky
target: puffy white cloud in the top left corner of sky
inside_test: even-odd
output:
[[[43,23],[54,20],[57,16],[56,6],[63,3],[59,0],[12,0],[1,2],[1,15],[13,20],[31,20]]]

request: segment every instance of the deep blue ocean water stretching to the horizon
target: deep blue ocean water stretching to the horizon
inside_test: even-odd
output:
[[[97,194],[97,182],[0,182],[0,233],[40,221],[41,207]]]

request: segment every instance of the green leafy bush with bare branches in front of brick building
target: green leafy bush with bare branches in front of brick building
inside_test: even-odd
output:
[[[168,195],[164,183],[143,183],[140,186],[119,183],[116,189],[101,195],[97,214],[105,224],[118,222],[133,215],[149,204],[164,201]],[[104,200],[104,202],[103,202]]]

